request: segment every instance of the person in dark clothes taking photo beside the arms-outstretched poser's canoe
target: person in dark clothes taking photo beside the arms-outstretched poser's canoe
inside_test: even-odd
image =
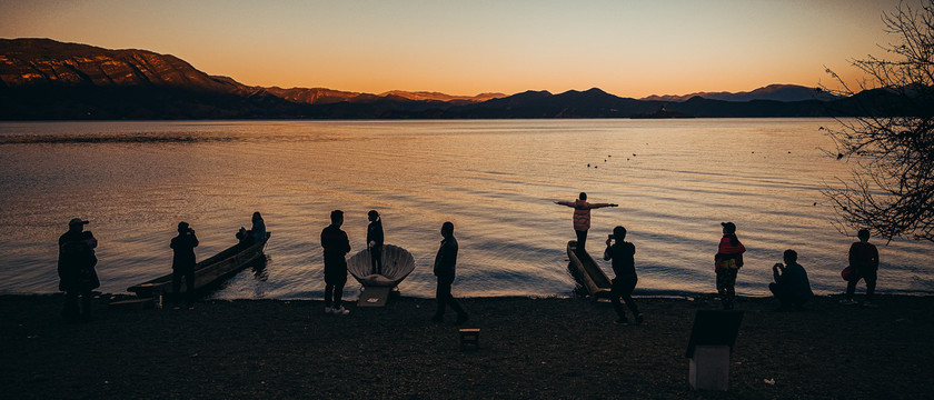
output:
[[[609,300],[613,302],[613,308],[619,316],[616,323],[629,324],[626,319],[626,311],[623,304],[619,303],[619,298],[626,302],[636,323],[642,323],[643,314],[639,313],[639,308],[633,300],[633,290],[636,289],[636,283],[639,281],[636,277],[636,246],[624,241],[626,239],[626,228],[613,228],[613,234],[606,240],[606,250],[604,250],[604,260],[613,260],[613,273],[616,278],[613,279],[613,289],[609,292]]]

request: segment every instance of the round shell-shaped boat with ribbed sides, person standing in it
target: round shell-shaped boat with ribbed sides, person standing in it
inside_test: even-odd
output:
[[[395,288],[415,270],[415,257],[398,246],[382,246],[382,274],[374,273],[369,249],[347,260],[347,271],[364,287]]]

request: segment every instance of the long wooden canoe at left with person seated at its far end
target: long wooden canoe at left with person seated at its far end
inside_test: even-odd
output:
[[[260,240],[249,247],[235,244],[227,250],[219,252],[207,260],[195,264],[195,291],[219,283],[221,279],[227,278],[236,272],[239,272],[247,266],[264,257],[262,250],[266,248],[266,242],[269,241],[271,232],[266,233],[266,239]],[[187,291],[185,284],[181,286],[181,292]],[[135,284],[127,289],[137,293],[140,298],[152,297],[153,292],[161,292],[165,294],[172,294],[172,274],[168,273],[162,277]]]

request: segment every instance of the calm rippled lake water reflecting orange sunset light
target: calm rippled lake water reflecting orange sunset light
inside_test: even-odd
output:
[[[822,119],[208,121],[0,123],[0,293],[57,290],[57,239],[73,217],[100,241],[103,292],[170,271],[169,240],[188,221],[199,260],[235,242],[260,211],[274,232],[261,271],[211,296],[321,298],[319,236],[346,212],[352,253],[366,212],[417,268],[404,294],[433,297],[439,228],[460,243],[455,296],[567,296],[573,200],[593,211],[588,249],[614,226],[636,244],[637,294],[715,291],[721,221],[748,249],[737,291],[764,296],[771,267],[797,250],[818,293],[841,292],[853,238],[837,232],[825,182],[853,167]],[[588,167],[590,164],[590,167]],[[884,247],[881,292],[934,292],[934,246]],[[608,263],[603,263],[610,271]],[[612,272],[610,272],[612,276]],[[348,281],[347,296],[359,286]],[[861,286],[862,288],[862,286]],[[861,289],[862,290],[862,289]]]

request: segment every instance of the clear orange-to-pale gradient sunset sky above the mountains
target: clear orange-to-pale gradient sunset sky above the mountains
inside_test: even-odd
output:
[[[898,0],[0,0],[0,38],[168,53],[241,83],[624,97],[832,83]]]

